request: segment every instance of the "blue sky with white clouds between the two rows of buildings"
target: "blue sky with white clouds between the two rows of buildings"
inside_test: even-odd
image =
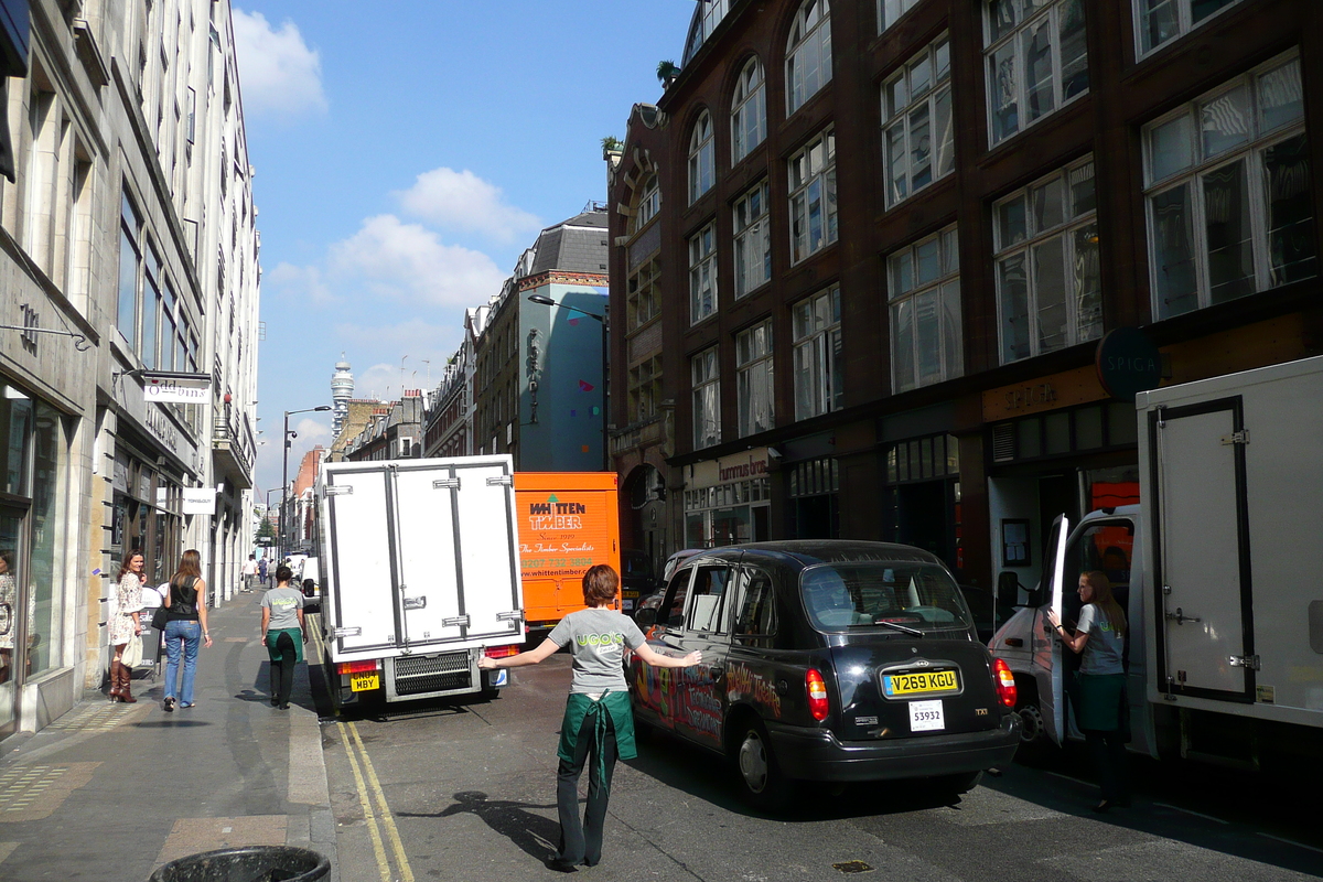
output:
[[[679,63],[693,7],[235,5],[262,234],[261,491],[280,485],[283,411],[329,403],[341,352],[357,397],[435,383],[463,309],[541,227],[606,198],[601,139],[660,97],[656,65]],[[291,472],[329,444],[325,417],[290,418]]]

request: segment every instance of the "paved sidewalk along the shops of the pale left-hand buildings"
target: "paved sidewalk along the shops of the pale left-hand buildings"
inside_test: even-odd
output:
[[[327,854],[339,882],[307,665],[290,710],[271,707],[261,596],[210,611],[196,707],[167,714],[163,682],[135,678],[136,705],[89,692],[0,758],[0,879],[146,882],[197,852],[288,844]]]

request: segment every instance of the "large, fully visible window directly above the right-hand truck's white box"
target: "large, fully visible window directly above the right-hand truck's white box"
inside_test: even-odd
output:
[[[1155,319],[1318,275],[1301,60],[1144,127]]]

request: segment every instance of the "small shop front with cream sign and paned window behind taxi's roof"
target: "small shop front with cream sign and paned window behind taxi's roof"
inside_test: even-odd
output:
[[[709,549],[770,538],[766,447],[685,467],[684,543]]]

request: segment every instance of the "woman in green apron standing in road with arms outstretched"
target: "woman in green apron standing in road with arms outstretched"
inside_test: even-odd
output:
[[[697,652],[676,659],[654,651],[634,620],[613,608],[619,587],[617,571],[598,563],[583,574],[587,610],[561,619],[537,649],[507,659],[483,656],[478,660],[479,668],[492,670],[536,665],[566,645],[574,655],[557,750],[561,760],[556,774],[561,850],[548,861],[550,869],[564,873],[574,871],[581,863],[595,866],[602,860],[602,825],[611,796],[615,759],[639,755],[634,746],[634,711],[624,682],[624,647],[658,668],[689,668],[703,660]],[[579,824],[578,779],[589,760],[587,808]]]

